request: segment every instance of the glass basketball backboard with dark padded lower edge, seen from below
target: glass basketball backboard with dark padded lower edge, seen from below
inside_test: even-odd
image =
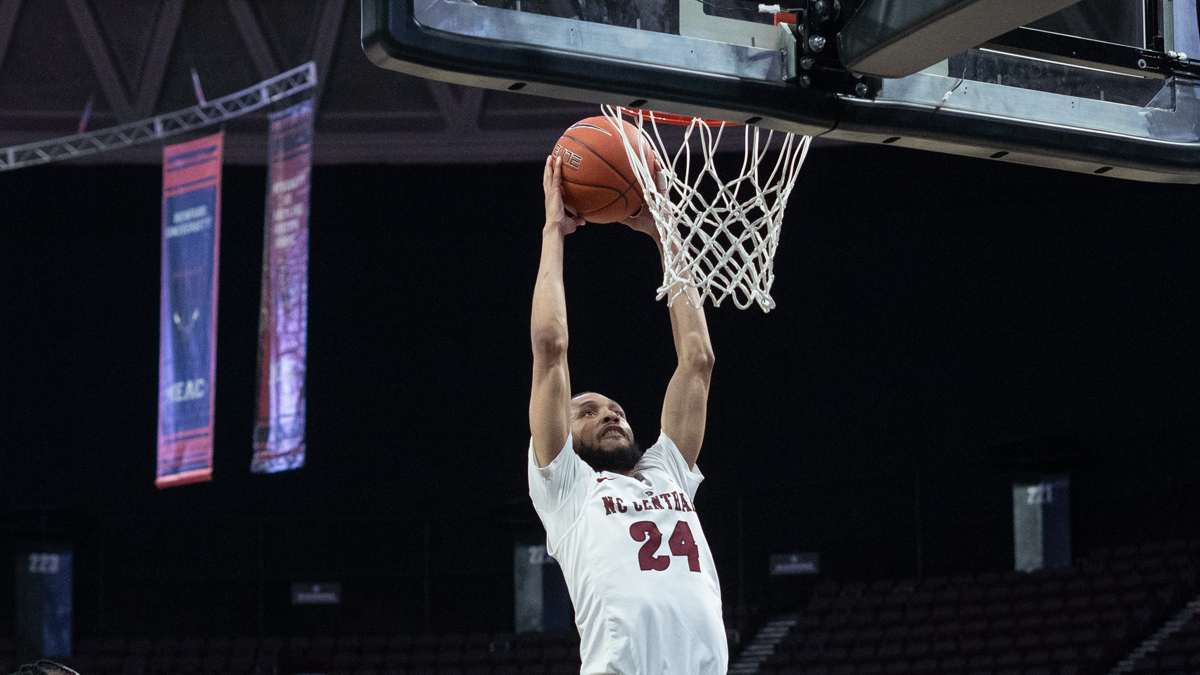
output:
[[[1043,16],[1067,4],[794,0],[773,25],[757,0],[362,0],[362,44],[456,84],[1200,183],[1196,0]]]

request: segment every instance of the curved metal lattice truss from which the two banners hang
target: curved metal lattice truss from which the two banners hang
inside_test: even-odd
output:
[[[316,84],[317,65],[308,61],[235,94],[209,101],[204,106],[193,106],[90,133],[0,148],[0,171],[72,160],[161,141],[241,117],[275,101],[312,89]]]

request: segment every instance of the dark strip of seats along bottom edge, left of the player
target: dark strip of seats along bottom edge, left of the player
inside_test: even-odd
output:
[[[83,675],[577,675],[580,645],[542,633],[108,639],[66,661]]]

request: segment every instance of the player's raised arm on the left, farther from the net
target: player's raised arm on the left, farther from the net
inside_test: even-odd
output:
[[[566,369],[566,294],[563,289],[563,238],[583,225],[563,209],[563,161],[547,157],[542,172],[546,225],[541,231],[541,263],[533,289],[533,392],[529,431],[538,466],[554,461],[571,429],[571,378]]]

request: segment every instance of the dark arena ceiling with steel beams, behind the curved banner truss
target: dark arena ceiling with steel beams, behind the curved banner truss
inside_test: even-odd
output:
[[[359,44],[355,0],[0,0],[0,147],[76,133],[245,89],[317,64],[318,163],[536,161],[587,103],[384,71]],[[227,157],[263,163],[265,113],[230,121]],[[157,163],[156,144],[73,160]]]

